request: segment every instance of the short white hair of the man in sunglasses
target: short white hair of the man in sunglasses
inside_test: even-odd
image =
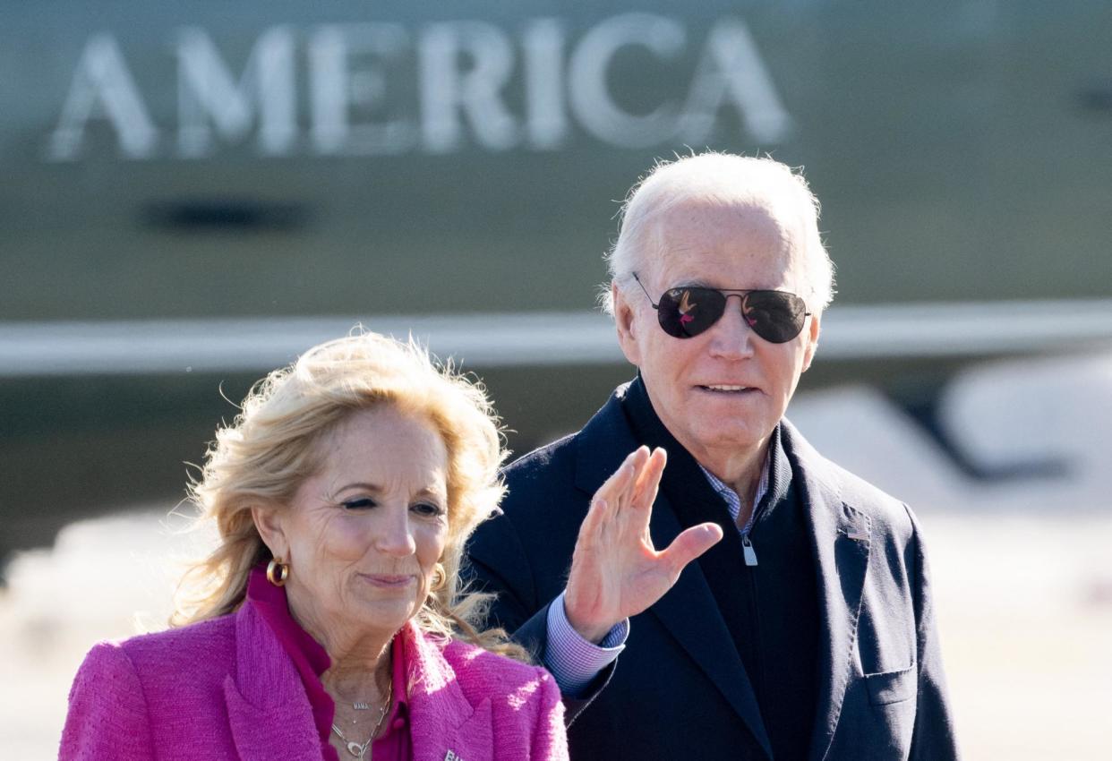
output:
[[[811,312],[821,313],[834,298],[834,264],[818,233],[818,199],[803,175],[771,158],[752,158],[708,151],[675,161],[661,160],[626,196],[619,213],[618,239],[606,255],[610,280],[629,287],[633,273],[646,257],[659,255],[657,223],[669,209],[685,202],[716,206],[761,204],[781,210],[802,233],[802,261],[807,293],[801,294]],[[657,250],[654,250],[656,248]],[[608,285],[599,295],[603,309],[614,314]]]

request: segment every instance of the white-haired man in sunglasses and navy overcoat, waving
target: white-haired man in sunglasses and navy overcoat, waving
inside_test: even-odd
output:
[[[804,179],[661,165],[609,268],[637,376],[506,470],[470,546],[497,623],[597,693],[572,758],[956,758],[915,516],[784,418],[833,293]]]

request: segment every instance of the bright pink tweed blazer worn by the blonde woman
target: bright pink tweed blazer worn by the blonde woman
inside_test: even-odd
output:
[[[566,760],[559,690],[544,669],[401,630],[415,761]],[[292,661],[255,606],[85,659],[59,759],[318,761]]]

